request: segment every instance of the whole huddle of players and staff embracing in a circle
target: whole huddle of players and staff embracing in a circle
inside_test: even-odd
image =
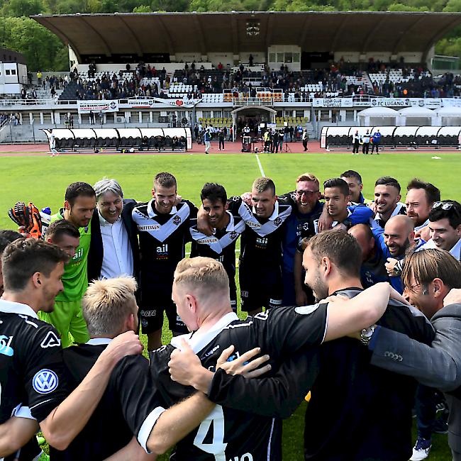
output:
[[[41,431],[52,461],[282,460],[311,391],[305,460],[423,460],[436,423],[461,460],[461,205],[392,177],[368,201],[352,170],[294,183],[206,183],[197,207],[167,172],[145,203],[75,182],[0,230],[0,459],[38,460]]]

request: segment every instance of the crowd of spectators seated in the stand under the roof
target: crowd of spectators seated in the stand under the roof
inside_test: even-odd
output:
[[[140,62],[134,70],[126,65],[125,70],[118,72],[96,72],[96,65],[90,65],[87,73],[79,74],[74,70],[64,77],[45,77],[41,84],[55,97],[58,89],[65,89],[72,83],[72,94],[65,94],[65,99],[176,98],[174,93],[169,96],[174,84],[190,85],[188,99],[201,99],[203,94],[222,93],[223,90],[230,90],[235,96],[256,97],[258,87],[281,90],[284,101],[289,101],[289,96],[296,101],[307,101],[311,97],[329,96],[439,98],[461,94],[459,75],[448,73],[434,79],[431,72],[422,66],[411,67],[403,62],[389,65],[374,60],[362,69],[343,59],[329,67],[298,72],[289,70],[287,65],[282,65],[279,70],[270,70],[266,66],[264,70],[254,72],[243,65],[233,71],[221,63],[216,68],[205,69],[203,64],[199,67],[194,62],[186,62],[182,70],[171,75],[165,67],[156,69]],[[400,72],[401,79],[392,78],[392,72],[396,70]],[[377,75],[379,79],[374,78]],[[315,89],[308,88],[309,85],[315,85]],[[23,99],[34,98],[27,94]]]

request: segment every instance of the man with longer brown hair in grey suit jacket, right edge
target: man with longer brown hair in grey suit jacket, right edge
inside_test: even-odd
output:
[[[435,337],[431,345],[426,345],[378,326],[368,343],[373,351],[371,364],[415,377],[425,386],[448,393],[448,444],[453,460],[460,461],[461,264],[445,250],[417,251],[406,259],[402,281],[411,304],[431,318]],[[411,459],[425,459],[430,449],[430,439],[418,438]]]

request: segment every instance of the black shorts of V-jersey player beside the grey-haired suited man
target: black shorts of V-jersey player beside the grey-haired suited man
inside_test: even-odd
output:
[[[163,292],[162,292],[163,291]],[[163,326],[163,313],[167,313],[168,326],[174,333],[188,333],[187,326],[177,315],[176,306],[171,299],[171,289],[148,289],[147,293],[141,290],[139,317],[140,326],[145,335],[161,330]]]

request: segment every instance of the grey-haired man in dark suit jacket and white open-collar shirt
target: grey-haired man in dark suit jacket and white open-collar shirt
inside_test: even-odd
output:
[[[133,199],[123,199],[115,179],[101,179],[94,184],[96,209],[91,219],[91,244],[88,256],[88,279],[109,279],[139,273],[139,245],[131,212]]]

